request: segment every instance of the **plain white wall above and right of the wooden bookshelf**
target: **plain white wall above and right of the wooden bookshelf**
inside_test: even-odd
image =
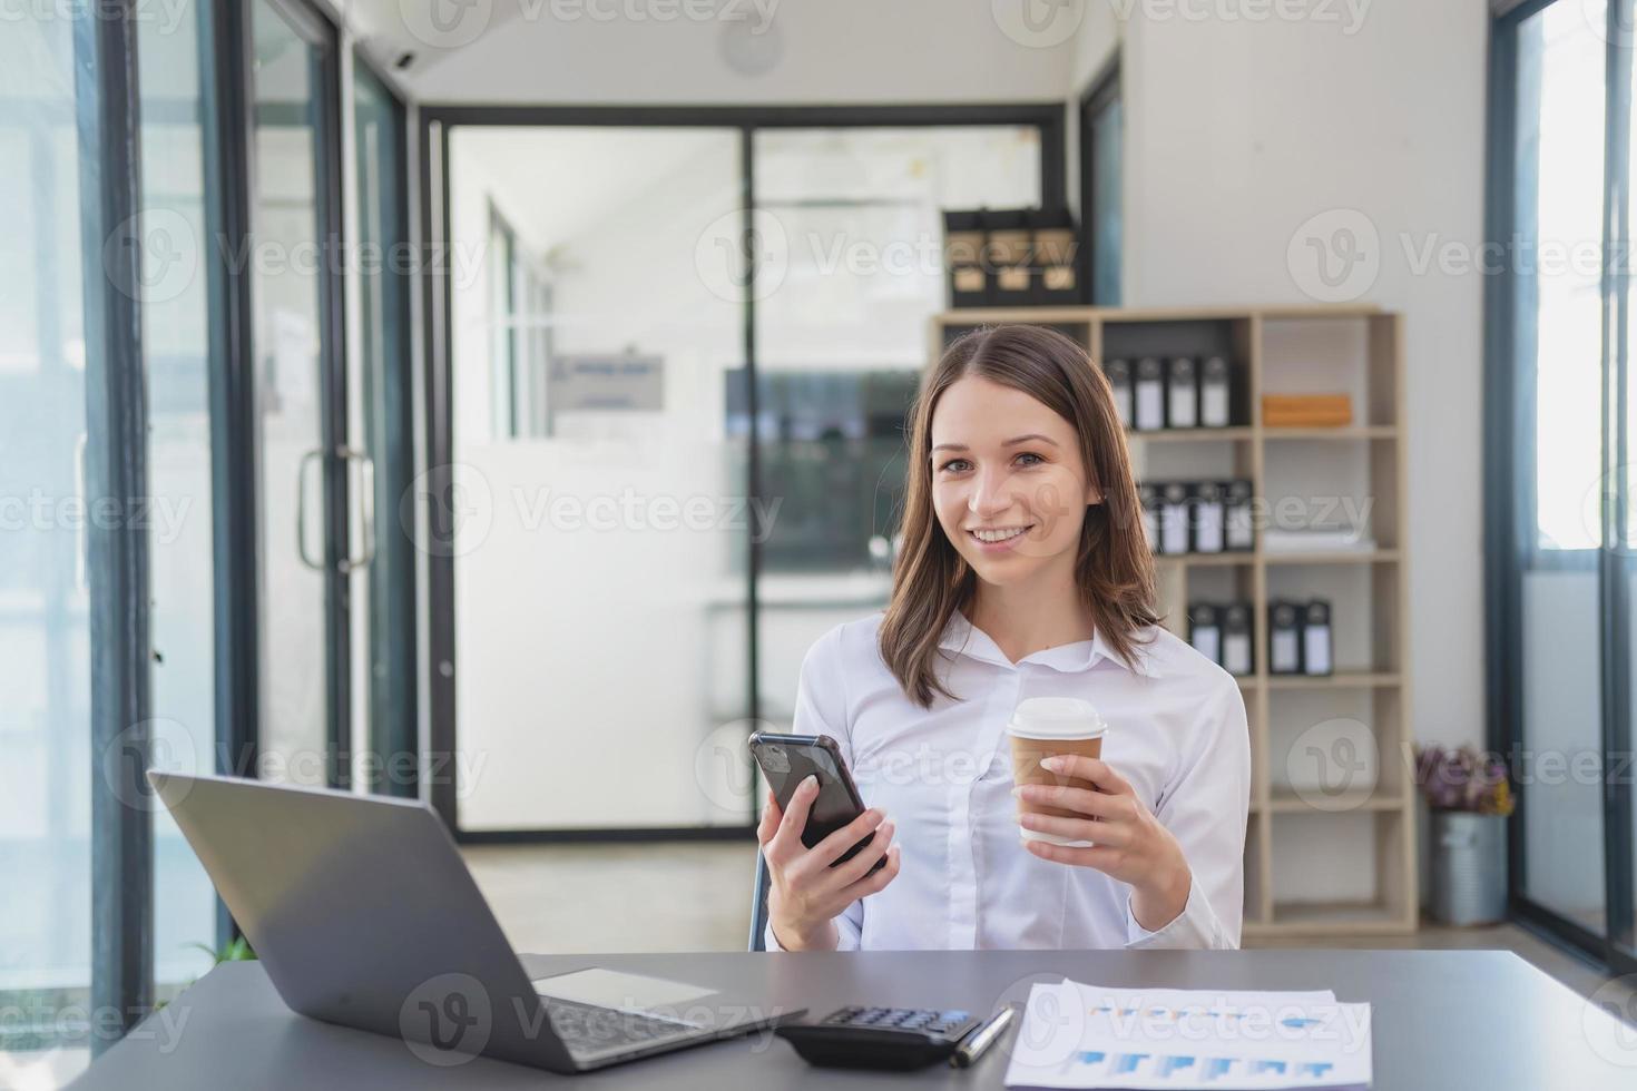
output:
[[[1360,301],[1406,316],[1409,721],[1423,741],[1481,744],[1483,286],[1418,275],[1409,255],[1483,239],[1488,13],[1375,0],[1346,33],[1329,10],[1341,21],[1125,26],[1125,303],[1313,303],[1292,237],[1329,209],[1373,224],[1380,272]],[[1080,43],[1087,74],[1095,46]]]

